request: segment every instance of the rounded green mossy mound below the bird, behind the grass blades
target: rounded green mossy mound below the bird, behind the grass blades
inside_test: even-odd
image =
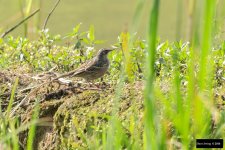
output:
[[[130,135],[130,120],[134,111],[140,120],[143,110],[141,90],[133,85],[124,88],[119,108],[121,125]],[[137,91],[138,90],[138,91]],[[136,92],[134,92],[136,91]],[[84,91],[70,97],[62,104],[54,116],[54,130],[57,145],[67,148],[87,148],[91,137],[101,139],[102,130],[108,127],[113,107],[114,90]],[[137,110],[138,109],[138,110]],[[141,120],[140,120],[141,121]],[[142,124],[138,128],[142,128]]]

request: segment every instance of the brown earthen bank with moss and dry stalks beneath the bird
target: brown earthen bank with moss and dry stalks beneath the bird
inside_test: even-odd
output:
[[[9,83],[5,77],[14,80],[17,75],[9,71],[1,73],[1,80]],[[32,78],[20,78],[15,101],[12,110],[35,88],[29,89],[33,85],[40,85],[42,81]],[[29,80],[28,80],[29,78]],[[106,83],[107,84],[107,83]],[[29,85],[29,86],[28,86]],[[27,90],[24,90],[27,89]],[[107,85],[105,88],[93,88],[88,84],[82,85],[61,85],[51,83],[43,85],[35,94],[32,94],[27,101],[16,110],[14,117],[21,118],[21,124],[26,124],[31,120],[36,101],[39,101],[39,122],[37,125],[34,147],[37,149],[60,149],[86,148],[94,137],[101,137],[102,131],[107,130],[109,118],[113,109],[118,108],[119,120],[126,133],[130,136],[130,121],[133,117],[140,124],[136,128],[143,130],[143,82],[123,85],[123,94],[119,106],[115,105],[117,97],[115,86]],[[134,92],[135,91],[135,92]],[[10,94],[10,92],[8,92]],[[4,109],[4,107],[3,107]],[[6,109],[6,108],[5,108]],[[134,116],[134,111],[135,115]],[[19,114],[19,115],[18,115]],[[26,147],[28,130],[20,133],[20,143]],[[140,134],[141,136],[141,134]],[[87,139],[88,138],[88,139]],[[101,141],[102,139],[99,138]],[[59,147],[60,145],[60,147]],[[92,144],[93,145],[93,144]]]

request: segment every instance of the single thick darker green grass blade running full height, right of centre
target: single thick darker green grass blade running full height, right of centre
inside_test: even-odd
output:
[[[154,79],[155,79],[155,57],[157,45],[157,29],[158,29],[158,14],[159,14],[160,0],[154,0],[150,12],[148,24],[148,57],[147,57],[147,80],[145,87],[145,117],[144,117],[144,148],[145,149],[159,149],[164,148],[164,130],[158,134],[157,130],[160,128],[159,118],[155,109],[154,96]],[[160,137],[158,136],[160,135]],[[161,138],[161,139],[160,139]],[[161,141],[162,140],[162,141]]]

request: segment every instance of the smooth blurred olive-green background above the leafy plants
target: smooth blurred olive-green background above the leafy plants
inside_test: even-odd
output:
[[[15,25],[23,18],[21,13],[21,2],[27,3],[29,0],[0,0],[0,31]],[[37,28],[41,28],[49,11],[54,6],[56,0],[33,0],[29,14],[37,8],[41,8],[39,14],[29,20],[28,37],[36,37]],[[55,12],[51,16],[47,28],[50,33],[65,35],[72,31],[73,27],[82,23],[81,31],[87,31],[90,25],[94,25],[97,40],[104,40],[104,45],[116,42],[118,35],[122,31],[129,31],[132,28],[132,19],[139,0],[61,0]],[[151,0],[146,0],[140,18],[139,27],[136,28],[141,38],[146,37],[146,24]],[[223,1],[218,1],[218,7],[222,11]],[[159,18],[159,37],[162,40],[174,41],[175,39],[188,39],[188,20],[190,19],[188,6],[191,0],[162,0]],[[22,6],[26,9],[26,6]],[[223,13],[224,14],[224,13]],[[221,15],[218,15],[221,16]],[[224,15],[223,15],[224,16]],[[221,33],[224,24],[218,25]],[[11,34],[23,36],[24,28],[20,26]],[[177,38],[176,38],[177,37]]]

